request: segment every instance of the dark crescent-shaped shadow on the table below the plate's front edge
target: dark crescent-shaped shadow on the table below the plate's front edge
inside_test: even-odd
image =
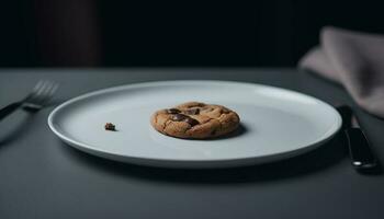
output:
[[[65,143],[63,142],[61,145]],[[135,178],[167,184],[262,183],[303,177],[336,165],[348,153],[345,136],[340,134],[336,135],[334,139],[324,146],[295,158],[279,162],[229,169],[185,170],[140,166],[90,155],[67,146],[60,148],[68,155],[68,159],[72,159],[80,165],[98,170],[102,174],[113,174],[129,180]]]

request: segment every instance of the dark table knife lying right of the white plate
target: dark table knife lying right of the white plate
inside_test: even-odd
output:
[[[342,105],[337,107],[343,120],[343,130],[348,140],[349,154],[353,168],[359,172],[369,172],[377,168],[374,155],[365,134],[351,107]]]

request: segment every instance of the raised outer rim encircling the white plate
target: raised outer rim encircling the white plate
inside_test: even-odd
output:
[[[116,92],[116,91],[121,91],[121,90],[127,90],[127,89],[135,89],[135,88],[144,88],[144,87],[158,87],[158,85],[172,85],[172,84],[194,84],[194,83],[207,83],[207,84],[225,84],[225,85],[247,85],[247,87],[252,87],[252,88],[263,88],[263,89],[273,89],[276,91],[282,91],[282,92],[290,92],[292,94],[295,95],[301,95],[307,99],[310,99],[313,101],[316,101],[327,107],[329,107],[331,111],[334,111],[337,120],[334,123],[334,126],[331,128],[329,128],[329,130],[326,132],[325,136],[323,136],[319,140],[317,139],[314,143],[309,143],[307,146],[294,149],[294,150],[289,150],[289,151],[283,151],[283,152],[279,152],[279,153],[273,153],[273,154],[264,154],[264,155],[247,155],[247,157],[241,157],[241,158],[224,158],[224,159],[214,159],[214,160],[196,160],[196,159],[169,159],[169,158],[150,158],[150,157],[136,157],[136,155],[126,155],[126,154],[120,154],[120,153],[114,153],[111,151],[105,151],[102,149],[99,149],[97,147],[92,147],[91,145],[87,145],[87,143],[82,143],[79,142],[72,138],[67,137],[65,134],[60,132],[58,128],[56,128],[55,124],[54,124],[54,119],[55,117],[59,114],[60,111],[63,111],[65,107],[68,107],[70,104],[76,103],[78,101],[91,97],[91,96],[97,96],[99,94],[104,94],[104,93],[110,93],[110,92]],[[199,164],[199,168],[210,168],[210,166],[205,166],[204,163],[211,163],[210,165],[212,165],[212,163],[219,163],[219,162],[241,162],[241,161],[246,161],[246,160],[255,160],[252,161],[252,164],[257,164],[259,162],[256,162],[257,160],[260,160],[260,163],[266,163],[266,161],[262,160],[267,160],[267,162],[271,162],[271,161],[276,161],[276,160],[285,160],[295,155],[300,155],[303,154],[307,151],[312,151],[316,148],[318,148],[319,146],[321,146],[323,143],[325,143],[326,141],[330,140],[341,128],[342,125],[342,118],[340,116],[340,114],[328,103],[314,97],[312,95],[305,94],[305,93],[301,93],[298,91],[294,91],[294,90],[290,90],[290,89],[285,89],[285,88],[279,88],[279,87],[273,87],[273,85],[267,85],[267,84],[260,84],[260,83],[252,83],[252,82],[242,82],[242,81],[226,81],[226,80],[163,80],[163,81],[149,81],[149,82],[138,82],[138,83],[127,83],[127,84],[121,84],[121,85],[115,85],[115,87],[110,87],[110,88],[105,88],[105,89],[99,89],[95,91],[91,91],[91,92],[87,92],[83,94],[80,94],[78,96],[71,97],[67,101],[65,101],[64,103],[59,104],[58,106],[56,106],[48,115],[47,118],[47,124],[49,129],[58,137],[60,138],[60,140],[65,141],[66,143],[68,143],[69,146],[84,151],[87,153],[93,154],[93,155],[98,155],[98,157],[102,157],[102,158],[106,158],[106,159],[111,159],[111,160],[115,160],[115,161],[122,161],[122,162],[128,162],[128,163],[136,163],[136,164],[140,164],[140,165],[147,165],[145,161],[149,161],[149,162],[155,162],[158,164],[148,164],[150,166],[156,165],[156,166],[166,166],[166,168],[179,168],[179,166],[172,166],[172,164],[167,164],[167,163],[178,163],[178,165],[182,164],[181,168],[193,168],[192,165]],[[284,158],[281,158],[284,157]],[[135,160],[135,162],[131,162],[132,160]],[[145,161],[144,161],[145,160]],[[144,162],[142,162],[144,161]],[[188,163],[193,163],[193,164],[188,164]],[[183,165],[184,164],[184,165]],[[187,164],[187,165],[185,165]],[[203,165],[201,165],[203,164]],[[244,164],[240,164],[244,165]],[[215,165],[212,165],[213,168],[217,168]],[[222,165],[218,165],[222,166]],[[238,165],[234,165],[234,164],[229,164],[229,165],[224,165],[224,166],[238,166]]]

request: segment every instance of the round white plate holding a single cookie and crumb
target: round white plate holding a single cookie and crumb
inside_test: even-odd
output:
[[[149,124],[159,108],[200,101],[236,111],[241,128],[215,140],[163,136]],[[105,123],[118,131],[104,130]],[[240,82],[163,81],[88,93],[56,107],[50,129],[94,155],[166,168],[226,168],[286,159],[332,137],[340,115],[328,104],[297,92]]]

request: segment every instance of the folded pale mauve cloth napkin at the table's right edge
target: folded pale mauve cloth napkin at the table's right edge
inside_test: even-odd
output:
[[[298,67],[341,83],[362,108],[384,117],[384,35],[324,27]]]

